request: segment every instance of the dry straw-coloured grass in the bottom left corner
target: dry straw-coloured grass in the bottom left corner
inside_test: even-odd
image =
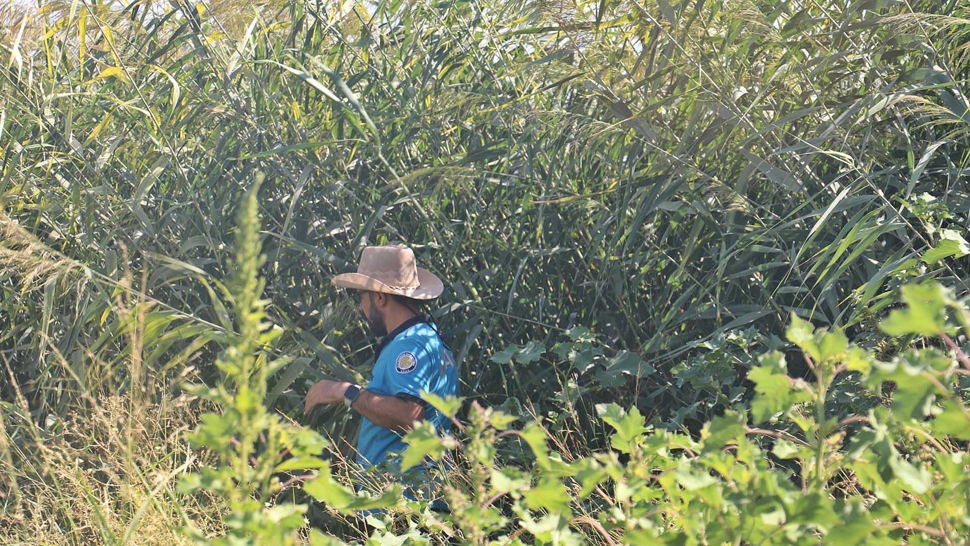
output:
[[[218,510],[174,493],[178,474],[199,457],[183,439],[198,414],[193,398],[133,411],[129,397],[108,395],[45,427],[22,411],[8,416],[0,542],[188,544],[178,531],[185,517],[218,532]]]

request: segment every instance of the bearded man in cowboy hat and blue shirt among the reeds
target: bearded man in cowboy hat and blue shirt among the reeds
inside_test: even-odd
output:
[[[371,382],[365,388],[323,380],[307,392],[304,413],[316,404],[344,403],[363,416],[357,440],[357,461],[365,468],[387,460],[389,452],[407,447],[401,436],[415,421],[427,420],[447,431],[450,420],[429,406],[421,392],[457,395],[458,366],[441,341],[430,315],[417,309],[436,298],[444,286],[417,266],[404,246],[368,247],[356,273],[334,277],[334,286],[351,290],[377,337]]]

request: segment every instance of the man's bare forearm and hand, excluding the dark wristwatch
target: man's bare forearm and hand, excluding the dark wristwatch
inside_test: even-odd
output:
[[[343,392],[350,387],[347,382],[322,380],[310,387],[307,392],[307,402],[304,414],[316,404],[342,404]],[[362,389],[357,399],[350,406],[355,411],[371,420],[377,427],[387,428],[396,432],[406,432],[414,427],[415,421],[424,421],[424,407],[411,400],[398,396],[376,394]]]

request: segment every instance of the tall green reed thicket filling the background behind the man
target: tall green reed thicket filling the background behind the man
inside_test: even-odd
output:
[[[137,424],[185,374],[222,379],[232,204],[254,170],[272,351],[292,358],[268,400],[289,415],[316,379],[366,379],[363,324],[328,281],[368,244],[409,244],[446,279],[434,312],[463,392],[571,399],[594,443],[607,399],[696,431],[725,402],[678,370],[736,330],[794,313],[891,352],[874,317],[899,285],[967,291],[955,0],[2,10],[8,467],[69,443],[72,411],[120,395]],[[657,373],[604,385],[492,358],[576,325]],[[355,430],[339,410],[307,425]]]

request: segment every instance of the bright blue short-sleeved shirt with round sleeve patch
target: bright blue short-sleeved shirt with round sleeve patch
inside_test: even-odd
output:
[[[415,317],[385,336],[366,389],[421,404],[425,407],[425,421],[443,434],[451,427],[451,421],[421,399],[421,391],[442,398],[458,395],[458,365],[427,318]],[[379,464],[387,460],[388,452],[403,453],[406,448],[400,433],[377,427],[362,416],[357,438],[358,463],[364,467]]]

